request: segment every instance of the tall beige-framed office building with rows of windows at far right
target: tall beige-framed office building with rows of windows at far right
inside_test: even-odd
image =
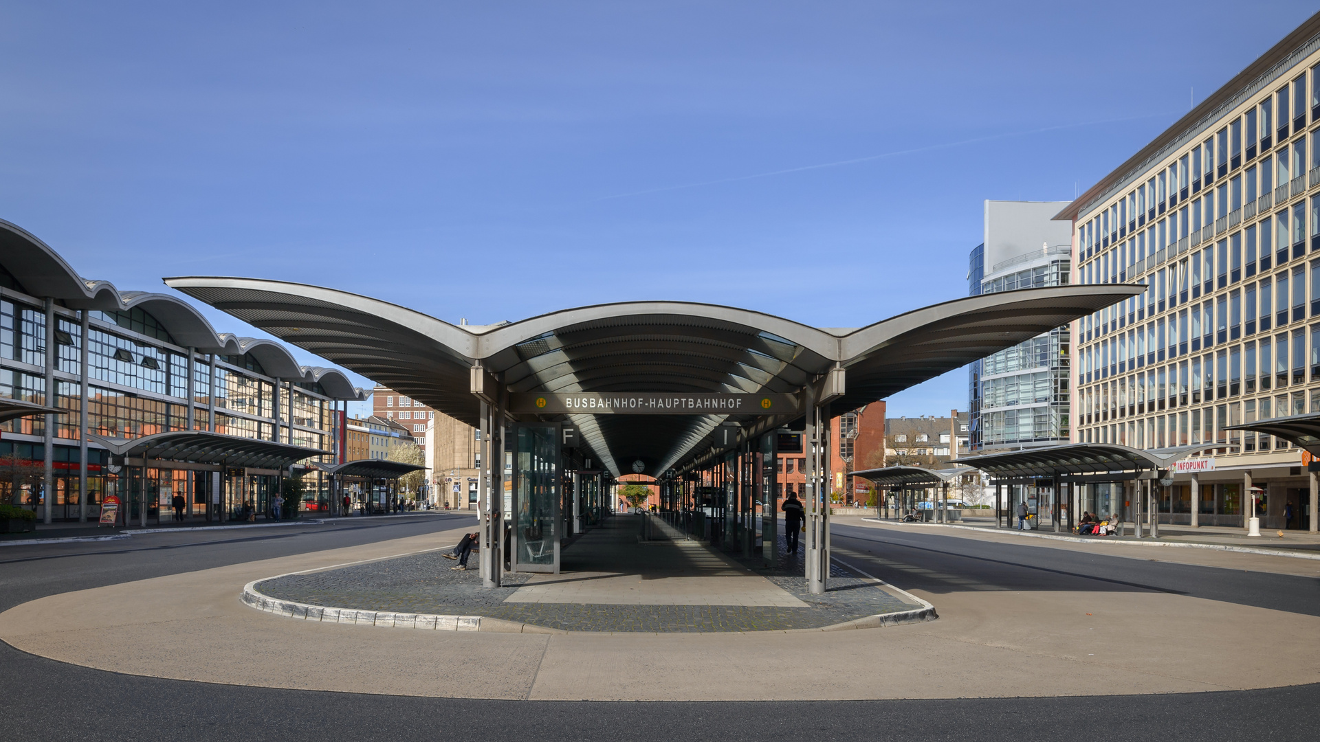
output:
[[[1076,280],[1147,287],[1074,323],[1073,440],[1214,445],[1166,522],[1239,525],[1257,495],[1262,527],[1307,527],[1302,452],[1228,428],[1320,411],[1320,15],[1057,218]]]

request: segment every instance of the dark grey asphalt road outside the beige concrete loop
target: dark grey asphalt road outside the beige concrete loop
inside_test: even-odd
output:
[[[0,610],[99,585],[364,544],[473,523],[457,514],[333,525],[0,547]],[[1162,590],[1320,614],[1315,580],[834,527],[851,561],[896,585]],[[1208,638],[1206,651],[1216,638]],[[181,647],[180,651],[186,651]],[[234,651],[243,651],[235,647]],[[701,672],[694,667],[693,672]],[[462,683],[462,677],[455,677]],[[792,683],[748,677],[747,683]],[[876,668],[883,683],[883,668]],[[847,702],[540,702],[214,685],[70,665],[0,643],[0,741],[352,739],[1298,739],[1320,737],[1320,685],[1065,698]]]

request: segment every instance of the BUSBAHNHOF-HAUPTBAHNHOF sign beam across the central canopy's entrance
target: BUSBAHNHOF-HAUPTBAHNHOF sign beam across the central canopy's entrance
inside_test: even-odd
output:
[[[512,393],[515,415],[791,415],[797,412],[793,395],[743,393]]]

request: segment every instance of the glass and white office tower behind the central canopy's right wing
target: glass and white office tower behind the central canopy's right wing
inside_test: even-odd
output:
[[[1068,202],[986,201],[982,242],[972,251],[970,296],[1069,283],[1072,234],[1053,217]],[[973,453],[1068,441],[1068,327],[1056,327],[972,363]],[[966,453],[966,452],[964,452]]]

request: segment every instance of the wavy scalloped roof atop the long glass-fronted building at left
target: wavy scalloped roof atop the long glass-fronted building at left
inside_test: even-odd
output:
[[[251,353],[271,376],[301,383],[317,382],[335,399],[366,396],[342,371],[301,366],[289,349],[277,342],[216,333],[195,306],[177,296],[120,292],[110,281],[82,279],[49,244],[4,219],[0,219],[0,267],[15,277],[22,292],[36,298],[54,298],[69,309],[102,312],[141,309],[154,317],[183,347],[220,355]]]

